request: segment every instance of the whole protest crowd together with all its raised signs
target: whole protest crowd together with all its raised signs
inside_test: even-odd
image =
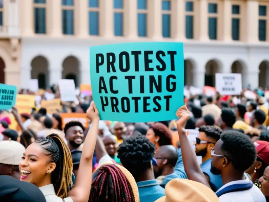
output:
[[[91,85],[0,84],[0,201],[269,201],[269,92],[184,86],[182,43],[90,48]]]

